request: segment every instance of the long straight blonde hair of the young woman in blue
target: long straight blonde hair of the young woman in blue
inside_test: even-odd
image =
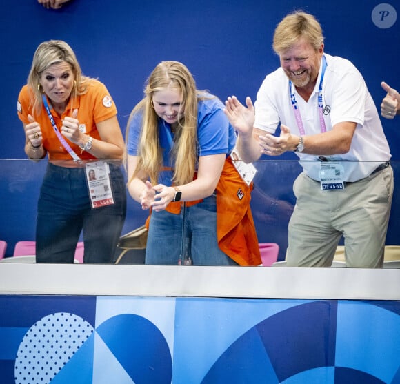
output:
[[[159,172],[163,167],[163,154],[159,142],[159,129],[157,116],[152,106],[152,97],[155,92],[168,87],[181,92],[182,107],[181,118],[175,132],[174,150],[174,176],[172,182],[181,185],[193,180],[197,163],[197,103],[204,99],[196,89],[196,83],[188,68],[177,61],[161,61],[150,74],[145,97],[132,110],[128,127],[134,114],[143,111],[141,121],[141,135],[137,155],[139,161],[132,179],[142,171],[148,174],[152,183],[157,183]],[[128,129],[126,130],[128,142]],[[131,179],[131,180],[132,180]]]

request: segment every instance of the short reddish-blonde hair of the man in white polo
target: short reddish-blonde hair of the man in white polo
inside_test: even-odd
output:
[[[272,47],[277,54],[281,54],[293,46],[301,37],[306,39],[317,51],[323,44],[322,28],[312,14],[295,11],[284,17],[274,32]]]

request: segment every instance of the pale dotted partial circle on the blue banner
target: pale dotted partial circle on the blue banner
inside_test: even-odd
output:
[[[92,335],[94,329],[74,314],[50,314],[23,336],[15,358],[15,384],[48,384]]]

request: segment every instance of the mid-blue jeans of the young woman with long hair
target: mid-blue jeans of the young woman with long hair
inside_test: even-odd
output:
[[[152,212],[146,264],[177,265],[181,256],[190,257],[193,265],[237,265],[217,243],[215,196],[182,207],[180,214]]]

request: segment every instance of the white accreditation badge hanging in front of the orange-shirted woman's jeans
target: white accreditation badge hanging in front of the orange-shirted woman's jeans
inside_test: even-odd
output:
[[[90,203],[92,208],[114,204],[110,182],[110,167],[106,161],[86,164]]]

